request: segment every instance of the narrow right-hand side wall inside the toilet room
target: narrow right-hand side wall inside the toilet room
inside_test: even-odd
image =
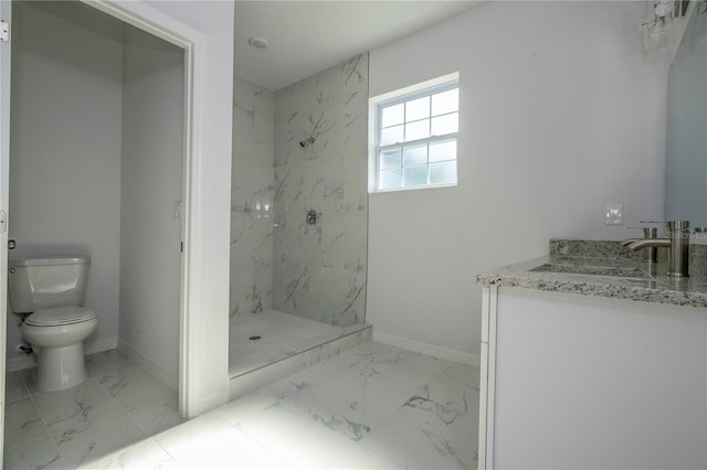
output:
[[[123,49],[119,345],[177,386],[184,51],[133,26]]]

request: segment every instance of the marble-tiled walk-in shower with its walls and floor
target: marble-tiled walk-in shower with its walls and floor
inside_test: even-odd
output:
[[[232,383],[370,338],[368,55],[275,93],[236,77],[233,113]]]

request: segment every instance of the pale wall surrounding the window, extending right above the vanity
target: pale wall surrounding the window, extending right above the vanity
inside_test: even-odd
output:
[[[642,2],[487,2],[371,51],[370,96],[458,71],[456,188],[371,194],[367,321],[477,355],[474,275],[663,216],[667,58]],[[608,227],[608,203],[624,225]]]

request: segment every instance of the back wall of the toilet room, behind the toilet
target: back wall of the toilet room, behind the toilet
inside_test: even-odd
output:
[[[118,333],[122,39],[81,4],[13,4],[10,256],[91,255],[86,307]],[[20,359],[8,313],[8,359]]]

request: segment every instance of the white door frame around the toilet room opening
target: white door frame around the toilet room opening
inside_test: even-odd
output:
[[[88,7],[168,41],[184,51],[182,241],[179,311],[179,410],[192,418],[228,402],[228,253],[232,109],[233,6],[220,3],[200,15],[179,2],[80,0]],[[10,18],[11,0],[0,0]],[[224,17],[228,14],[228,17]],[[193,24],[192,26],[192,19]],[[12,26],[12,24],[11,24]],[[197,28],[198,26],[198,28]],[[0,211],[8,211],[10,47],[2,43],[0,82]],[[229,68],[228,75],[223,72]],[[228,179],[230,181],[230,179]],[[11,217],[11,214],[8,215]],[[7,263],[7,232],[0,233],[0,261]],[[4,269],[0,269],[3,271]],[[4,280],[3,280],[4,279]],[[0,274],[0,334],[7,343],[7,273]],[[226,328],[223,328],[226,327]],[[0,350],[4,377],[6,348]],[[0,380],[2,380],[0,377]],[[4,392],[4,387],[2,387]],[[2,398],[2,395],[0,395]],[[0,413],[3,412],[0,400]],[[4,418],[0,416],[0,426]],[[0,440],[1,441],[1,440]]]

